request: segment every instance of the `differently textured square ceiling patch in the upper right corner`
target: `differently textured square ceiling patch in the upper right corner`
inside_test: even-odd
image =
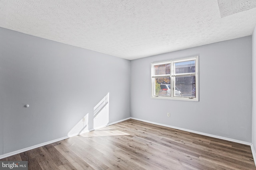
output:
[[[256,7],[256,0],[218,0],[220,16],[226,17]]]

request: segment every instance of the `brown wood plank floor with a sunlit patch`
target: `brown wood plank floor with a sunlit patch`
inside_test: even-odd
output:
[[[248,145],[133,119],[2,160],[30,170],[256,170]]]

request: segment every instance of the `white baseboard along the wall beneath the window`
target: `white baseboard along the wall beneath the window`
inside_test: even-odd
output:
[[[146,123],[152,123],[154,125],[170,127],[170,128],[173,128],[173,129],[178,129],[178,130],[187,131],[187,132],[191,132],[191,133],[196,133],[196,134],[204,135],[204,136],[208,136],[208,137],[214,137],[214,138],[217,138],[217,139],[223,139],[223,140],[226,140],[226,141],[236,142],[236,143],[240,143],[240,144],[244,144],[244,145],[251,145],[252,144],[250,142],[240,141],[240,140],[231,139],[231,138],[227,138],[227,137],[221,137],[221,136],[212,135],[212,134],[208,134],[208,133],[202,133],[202,132],[193,131],[193,130],[189,130],[189,129],[183,129],[183,128],[180,128],[180,127],[175,127],[175,126],[170,126],[170,125],[164,125],[162,123],[155,123],[155,122],[152,122],[152,121],[146,121],[146,120],[137,119],[137,118],[134,118],[134,117],[131,117],[131,119],[138,120],[138,121],[144,121]]]

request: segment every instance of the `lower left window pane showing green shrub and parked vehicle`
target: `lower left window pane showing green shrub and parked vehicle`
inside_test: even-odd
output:
[[[171,96],[170,77],[155,78],[154,96]]]

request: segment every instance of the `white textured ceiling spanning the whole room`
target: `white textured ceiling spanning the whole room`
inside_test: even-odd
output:
[[[138,59],[252,35],[256,0],[0,0],[0,27]]]

